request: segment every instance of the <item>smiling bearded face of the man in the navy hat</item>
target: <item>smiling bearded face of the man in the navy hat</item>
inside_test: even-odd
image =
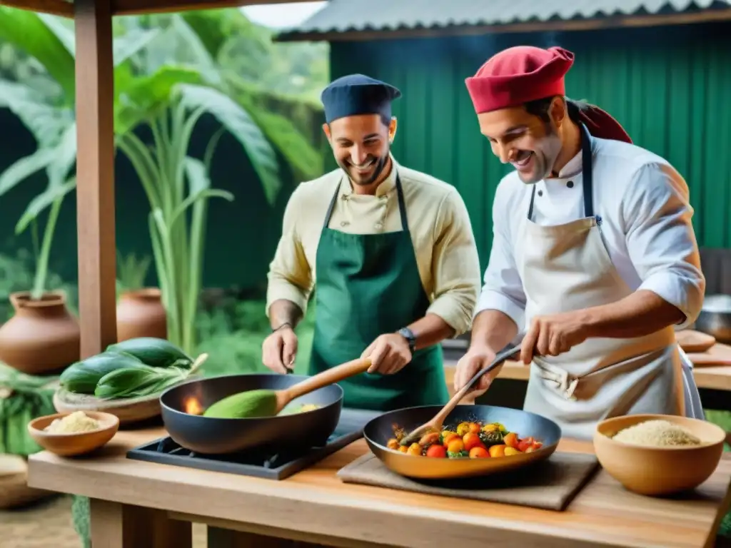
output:
[[[322,126],[338,165],[357,186],[379,183],[388,165],[396,119],[385,123],[378,114],[346,116]]]

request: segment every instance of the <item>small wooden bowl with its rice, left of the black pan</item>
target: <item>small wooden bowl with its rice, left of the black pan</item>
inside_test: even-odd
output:
[[[56,413],[39,416],[28,424],[28,433],[39,446],[62,457],[99,449],[118,429],[118,417],[102,411]]]

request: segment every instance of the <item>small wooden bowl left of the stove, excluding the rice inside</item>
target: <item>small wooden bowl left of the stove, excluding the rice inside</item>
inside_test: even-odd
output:
[[[78,433],[50,433],[44,430],[54,420],[70,414],[56,413],[33,419],[28,424],[28,432],[31,438],[43,449],[62,457],[72,457],[99,449],[114,437],[119,428],[119,419],[113,414],[102,413],[101,411],[84,411],[86,416],[99,421],[99,428]]]

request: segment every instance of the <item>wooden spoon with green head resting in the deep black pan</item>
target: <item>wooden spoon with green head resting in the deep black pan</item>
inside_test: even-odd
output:
[[[349,378],[360,373],[365,373],[371,367],[370,358],[353,359],[334,368],[317,373],[305,381],[294,384],[289,388],[282,390],[249,390],[241,392],[229,397],[224,397],[213,403],[211,407],[205,410],[203,416],[212,416],[219,418],[232,418],[227,414],[219,414],[221,408],[227,408],[227,402],[230,398],[236,398],[237,411],[236,418],[254,418],[262,416],[275,416],[281,412],[289,402],[300,396],[314,392],[315,390],[327,387],[329,384],[335,384],[345,378]]]

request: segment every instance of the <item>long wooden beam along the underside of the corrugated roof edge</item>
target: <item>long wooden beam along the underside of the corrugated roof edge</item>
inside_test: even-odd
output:
[[[671,13],[667,15],[635,15],[596,19],[539,21],[508,25],[452,25],[439,28],[400,28],[395,31],[328,31],[284,32],[275,36],[275,42],[370,42],[411,38],[439,38],[474,36],[479,34],[507,34],[557,31],[595,31],[606,28],[633,28],[652,26],[716,23],[731,20],[728,9],[706,9],[702,12]]]

